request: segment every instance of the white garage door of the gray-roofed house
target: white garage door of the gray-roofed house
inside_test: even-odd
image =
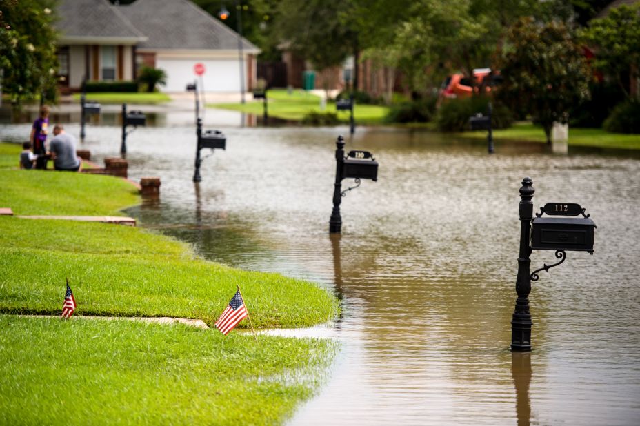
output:
[[[239,92],[240,90],[240,65],[237,59],[161,59],[156,61],[156,68],[167,73],[167,84],[160,86],[163,92],[184,92],[187,83],[193,83],[196,79],[194,66],[202,63],[205,72],[202,80],[203,90],[206,92]],[[244,74],[247,72],[247,64],[243,63]]]

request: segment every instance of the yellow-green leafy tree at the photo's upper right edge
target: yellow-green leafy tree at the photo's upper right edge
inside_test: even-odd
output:
[[[640,77],[640,3],[614,8],[607,17],[594,19],[583,38],[595,49],[594,68],[617,81],[626,96],[632,97],[630,80]]]

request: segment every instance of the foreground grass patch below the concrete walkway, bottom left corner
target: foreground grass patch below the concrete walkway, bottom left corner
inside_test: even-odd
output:
[[[3,425],[280,424],[335,349],[132,321],[0,316],[0,329]]]

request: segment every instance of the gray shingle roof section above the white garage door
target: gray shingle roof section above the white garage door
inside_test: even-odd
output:
[[[137,0],[119,6],[123,14],[148,37],[147,49],[236,50],[238,34],[189,0]],[[247,51],[259,49],[246,39]]]

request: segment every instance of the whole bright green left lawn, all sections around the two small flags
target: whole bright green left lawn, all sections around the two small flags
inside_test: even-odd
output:
[[[139,202],[112,176],[12,170],[19,151],[0,144],[0,207],[16,214],[118,214]],[[66,278],[77,302],[71,321],[57,318]],[[255,343],[246,320],[222,336],[88,319],[212,325],[236,285],[255,327],[303,327],[338,312],[313,283],[203,261],[186,243],[139,227],[0,216],[0,424],[283,423],[317,389],[334,343]]]

